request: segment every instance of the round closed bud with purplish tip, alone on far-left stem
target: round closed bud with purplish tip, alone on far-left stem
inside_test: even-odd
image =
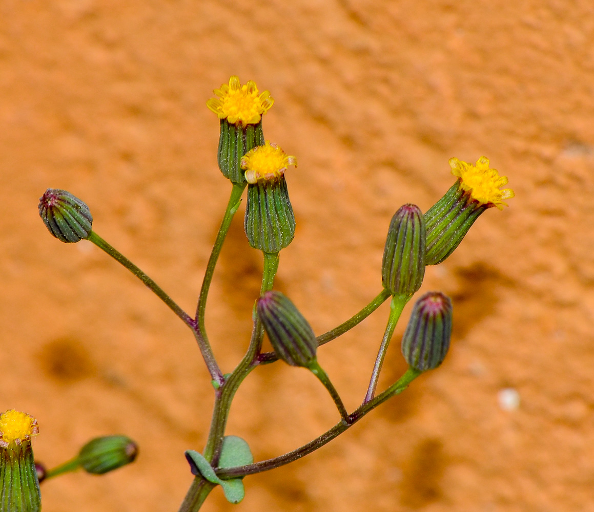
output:
[[[91,233],[89,206],[66,190],[46,190],[39,198],[39,215],[49,232],[65,243],[83,240]]]

